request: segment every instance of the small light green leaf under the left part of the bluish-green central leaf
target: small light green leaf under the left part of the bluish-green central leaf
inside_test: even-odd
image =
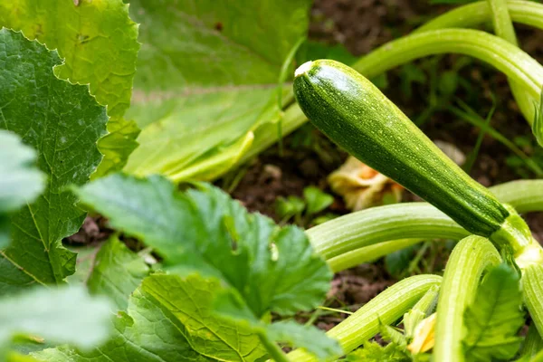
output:
[[[109,296],[119,310],[126,310],[130,293],[148,273],[143,259],[112,236],[96,254],[87,286],[92,294]]]

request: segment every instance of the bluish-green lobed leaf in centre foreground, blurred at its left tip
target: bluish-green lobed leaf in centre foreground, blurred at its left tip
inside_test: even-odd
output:
[[[199,188],[182,194],[160,176],[118,174],[76,192],[114,227],[153,247],[166,265],[226,281],[257,319],[319,305],[332,273],[302,230],[249,214],[214,186]]]

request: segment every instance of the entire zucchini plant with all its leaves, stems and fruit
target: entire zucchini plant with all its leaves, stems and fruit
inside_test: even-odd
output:
[[[193,3],[132,1],[130,9],[122,0],[0,4],[0,360],[537,356],[543,255],[519,213],[543,210],[543,181],[480,186],[359,73],[372,77],[433,53],[472,55],[507,74],[540,138],[543,69],[515,46],[510,22],[543,28],[542,5],[495,0],[462,6],[371,52],[354,69],[326,60],[303,64],[292,92],[282,82],[303,40],[310,1],[281,0],[279,20],[256,30],[245,14],[266,14],[258,2],[188,6]],[[129,11],[148,21],[138,72],[138,24]],[[237,27],[221,21],[241,15]],[[451,29],[490,19],[497,36]],[[278,35],[266,43],[256,36],[246,47],[226,47],[242,42],[243,33],[276,32],[281,22],[289,24],[281,28],[286,40]],[[209,75],[196,57],[185,56],[178,38],[153,46],[169,28],[235,52],[208,62],[216,68]],[[203,53],[200,60],[214,58]],[[240,67],[224,71],[234,61]],[[177,92],[189,93],[181,104]],[[176,185],[224,174],[277,140],[278,122],[286,134],[306,115],[429,204],[376,207],[304,232],[249,213],[210,184]],[[229,132],[209,121],[218,116],[232,121]],[[176,138],[179,129],[186,131],[178,119],[194,126],[201,117],[208,121],[196,135],[204,138],[190,132]],[[132,155],[136,138],[141,145]],[[113,172],[121,169],[125,173]],[[150,175],[156,172],[165,176]],[[316,189],[305,196],[306,214],[331,202]],[[89,210],[106,216],[114,233],[99,250],[76,255],[62,241],[80,229]],[[297,319],[325,300],[334,271],[439,238],[461,240],[443,277],[398,281],[327,333]],[[137,252],[128,247],[134,239]],[[521,304],[533,321],[522,349]],[[378,333],[386,347],[371,340]]]

